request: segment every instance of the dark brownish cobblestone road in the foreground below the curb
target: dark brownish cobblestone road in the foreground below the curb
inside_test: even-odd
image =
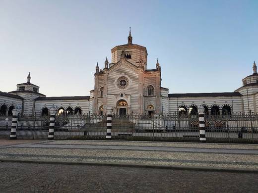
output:
[[[0,162],[1,193],[255,193],[258,174]]]

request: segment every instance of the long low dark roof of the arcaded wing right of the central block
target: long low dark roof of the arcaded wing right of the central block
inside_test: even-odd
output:
[[[241,97],[238,92],[231,93],[185,93],[185,94],[168,94],[168,97]]]

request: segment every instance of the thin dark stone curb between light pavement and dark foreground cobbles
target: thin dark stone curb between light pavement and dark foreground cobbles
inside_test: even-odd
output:
[[[132,168],[152,168],[152,169],[258,174],[258,170],[256,170],[256,169],[235,169],[235,168],[195,167],[195,166],[163,166],[163,165],[144,165],[144,164],[112,163],[112,162],[100,163],[100,162],[67,162],[67,161],[42,161],[42,160],[36,161],[36,160],[28,160],[28,159],[5,159],[5,158],[0,158],[0,162],[63,164],[63,165],[90,165],[90,166],[111,166],[111,167],[132,167]]]

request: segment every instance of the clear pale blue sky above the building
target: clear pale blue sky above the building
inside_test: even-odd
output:
[[[258,63],[258,0],[0,0],[0,91],[88,96],[111,49],[147,48],[169,93],[233,92]]]

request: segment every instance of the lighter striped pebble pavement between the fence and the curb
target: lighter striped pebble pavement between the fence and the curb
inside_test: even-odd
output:
[[[258,170],[257,146],[55,140],[2,146],[0,159]]]

